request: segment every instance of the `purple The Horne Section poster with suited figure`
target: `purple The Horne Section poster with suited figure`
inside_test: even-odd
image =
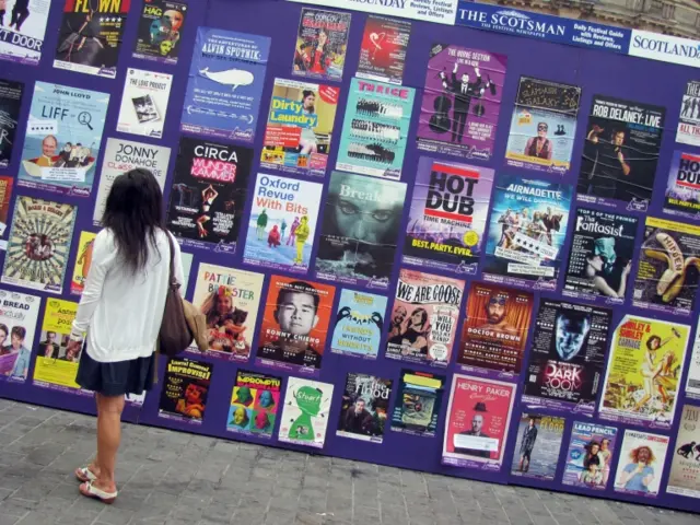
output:
[[[508,57],[433,44],[418,122],[418,149],[488,161],[505,85]]]

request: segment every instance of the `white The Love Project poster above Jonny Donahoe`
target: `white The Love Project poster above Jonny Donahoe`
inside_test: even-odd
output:
[[[129,68],[124,79],[117,131],[161,139],[173,75]]]

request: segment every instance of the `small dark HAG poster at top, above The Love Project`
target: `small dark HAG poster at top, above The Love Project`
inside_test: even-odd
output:
[[[144,0],[133,57],[177,63],[186,19],[187,4],[182,1]]]

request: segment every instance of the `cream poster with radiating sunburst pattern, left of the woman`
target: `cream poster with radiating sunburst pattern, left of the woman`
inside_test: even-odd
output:
[[[77,213],[71,205],[18,197],[1,281],[60,294]]]

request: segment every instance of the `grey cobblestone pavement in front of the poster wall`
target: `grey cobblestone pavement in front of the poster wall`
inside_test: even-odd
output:
[[[0,400],[0,525],[700,525],[700,516],[124,425],[114,505],[78,493],[94,419]]]

